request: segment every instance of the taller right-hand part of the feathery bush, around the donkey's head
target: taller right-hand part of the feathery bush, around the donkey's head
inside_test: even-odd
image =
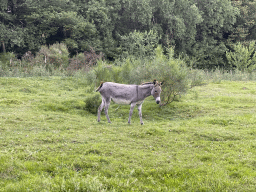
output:
[[[188,69],[185,63],[180,59],[174,58],[173,48],[168,51],[168,56],[165,56],[162,47],[157,47],[155,49],[155,58],[152,61],[143,62],[143,65],[133,71],[140,77],[141,81],[157,79],[164,82],[161,94],[162,105],[171,103],[176,96],[185,93],[188,89]]]

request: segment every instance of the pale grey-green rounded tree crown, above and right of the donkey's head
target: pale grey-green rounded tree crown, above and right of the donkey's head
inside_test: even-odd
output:
[[[189,0],[152,0],[151,4],[152,24],[162,36],[161,43],[186,53],[195,43],[197,24],[203,21],[196,4]]]

